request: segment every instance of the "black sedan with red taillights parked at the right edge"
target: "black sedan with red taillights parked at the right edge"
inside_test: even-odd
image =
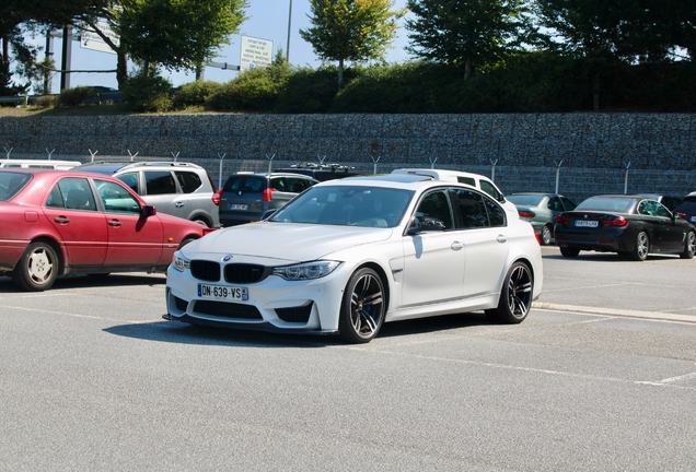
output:
[[[565,257],[581,250],[617,252],[646,260],[650,252],[692,259],[696,229],[657,200],[640,196],[598,196],[556,219],[556,244]]]

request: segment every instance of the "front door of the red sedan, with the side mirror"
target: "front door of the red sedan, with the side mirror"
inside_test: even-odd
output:
[[[140,201],[124,186],[100,179],[94,184],[104,204],[108,233],[105,268],[155,267],[163,247],[160,219],[143,216]]]

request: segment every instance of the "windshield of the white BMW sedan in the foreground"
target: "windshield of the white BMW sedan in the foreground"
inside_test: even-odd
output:
[[[404,217],[413,194],[408,190],[381,187],[312,187],[269,221],[394,227]]]

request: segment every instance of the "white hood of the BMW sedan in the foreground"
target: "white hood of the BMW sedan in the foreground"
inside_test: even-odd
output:
[[[258,222],[210,233],[186,246],[184,253],[187,257],[195,251],[199,256],[236,255],[301,262],[385,240],[392,232],[392,228]]]

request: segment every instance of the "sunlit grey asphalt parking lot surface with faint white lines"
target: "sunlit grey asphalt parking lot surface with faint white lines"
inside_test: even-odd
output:
[[[0,470],[692,471],[696,259],[544,248],[520,326],[167,322],[161,274],[0,278]]]

